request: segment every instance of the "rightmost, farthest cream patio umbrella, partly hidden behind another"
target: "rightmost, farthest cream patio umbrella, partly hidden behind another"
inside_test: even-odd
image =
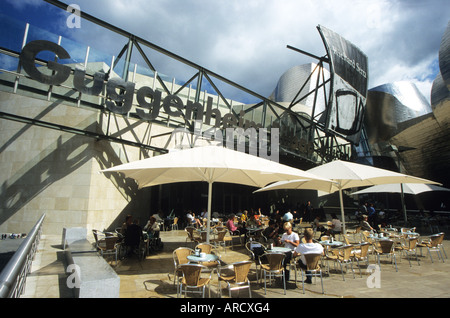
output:
[[[352,195],[358,194],[367,194],[367,193],[400,193],[401,201],[402,201],[402,210],[403,216],[405,219],[405,223],[408,221],[408,217],[406,214],[406,206],[405,206],[405,198],[404,193],[406,194],[420,194],[424,192],[431,191],[450,191],[450,189],[440,187],[435,184],[419,184],[419,183],[393,183],[393,184],[380,184],[376,186],[372,186],[366,188],[364,190],[353,192]]]

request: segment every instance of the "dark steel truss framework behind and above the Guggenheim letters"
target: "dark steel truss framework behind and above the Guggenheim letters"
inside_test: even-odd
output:
[[[45,0],[51,5],[54,5],[62,10],[67,10],[67,4],[62,3],[57,0]],[[317,57],[312,54],[303,52],[299,49],[295,49],[293,47],[288,46],[289,49],[293,49],[297,52],[300,52],[302,54],[306,54],[312,58],[315,58],[319,61],[317,68],[319,69],[319,72],[317,73],[316,78],[313,78],[313,73],[311,73],[310,78],[308,80],[314,80],[316,83],[315,89],[311,90],[304,96],[300,96],[300,92],[306,85],[300,85],[299,87],[299,93],[297,96],[292,100],[290,105],[288,107],[285,107],[277,102],[274,102],[272,100],[269,100],[268,98],[259,95],[258,93],[255,93],[229,79],[226,79],[222,77],[221,75],[212,72],[200,65],[197,65],[196,63],[193,63],[177,54],[174,54],[172,52],[169,52],[168,50],[165,50],[143,38],[140,38],[134,34],[131,34],[123,29],[120,29],[116,26],[113,26],[105,21],[102,21],[94,16],[89,15],[85,12],[80,12],[81,19],[90,21],[102,28],[105,28],[109,31],[112,31],[120,36],[123,36],[125,38],[125,43],[119,54],[117,55],[117,58],[114,59],[111,62],[111,66],[109,69],[109,72],[107,73],[107,77],[111,74],[111,72],[114,70],[114,68],[118,65],[120,61],[124,62],[124,68],[122,73],[123,80],[127,81],[129,77],[129,67],[131,64],[131,56],[133,50],[137,51],[140,55],[140,57],[145,61],[146,66],[154,72],[154,79],[159,83],[160,87],[163,90],[163,93],[165,94],[171,94],[171,95],[178,95],[181,94],[181,92],[189,85],[195,85],[195,102],[201,102],[201,94],[202,94],[202,85],[204,82],[207,82],[210,87],[214,90],[216,96],[217,96],[217,103],[221,103],[222,105],[225,105],[227,112],[230,114],[233,114],[234,116],[238,117],[240,116],[240,113],[243,112],[244,116],[247,118],[251,118],[251,122],[254,122],[259,125],[259,127],[263,128],[279,128],[280,129],[280,154],[281,155],[288,155],[293,156],[298,159],[306,160],[310,165],[317,165],[324,162],[328,162],[334,159],[345,159],[350,160],[350,158],[353,156],[353,144],[350,142],[345,141],[342,136],[337,134],[334,131],[328,131],[325,129],[323,124],[321,124],[318,121],[318,118],[322,115],[321,113],[316,114],[315,105],[316,100],[318,98],[324,98],[326,105],[329,100],[329,93],[327,92],[326,86],[329,83],[329,79],[326,78],[324,73],[325,64],[329,63],[329,59],[327,56],[324,57]],[[26,39],[26,36],[25,36]],[[25,44],[24,39],[24,44]],[[170,59],[173,59],[175,61],[181,62],[182,64],[192,68],[194,70],[194,75],[187,80],[183,85],[181,85],[177,90],[173,90],[174,85],[172,85],[172,88],[169,88],[166,84],[167,81],[164,81],[163,78],[158,73],[156,67],[153,65],[151,59],[149,58],[149,55],[146,54],[146,49],[150,49],[153,51],[156,51],[158,53],[163,54],[164,56],[169,57]],[[18,57],[20,55],[20,52],[14,52],[13,50],[10,50],[9,48],[1,48],[0,51],[1,54],[6,54],[12,57]],[[88,54],[88,53],[86,53]],[[87,60],[87,56],[86,56]],[[46,65],[46,62],[43,60],[36,60],[36,63],[41,65]],[[23,72],[21,72],[20,65],[17,72],[11,72],[8,70],[0,70],[1,72],[10,73],[16,76],[15,83],[9,83],[4,80],[2,80],[2,85],[5,86],[14,86],[14,92],[17,91],[17,87],[19,85],[20,78],[22,77],[28,77]],[[86,74],[87,78],[93,79],[93,74]],[[220,85],[229,85],[230,87],[233,87],[245,94],[248,94],[252,97],[253,100],[258,100],[258,102],[251,104],[251,105],[233,105],[232,101],[227,100],[227,98],[222,93],[222,90],[219,88]],[[71,100],[72,102],[75,101],[77,106],[84,106],[84,107],[92,107],[96,108],[98,110],[101,110],[102,112],[107,112],[108,114],[108,129],[106,133],[92,133],[92,132],[86,132],[83,130],[79,130],[73,127],[67,127],[63,125],[58,125],[54,123],[49,122],[42,122],[36,119],[32,118],[26,118],[26,117],[20,117],[13,114],[7,114],[7,113],[0,113],[0,118],[8,119],[8,120],[16,120],[28,124],[33,125],[40,125],[42,127],[48,127],[52,129],[58,129],[65,132],[75,133],[75,134],[81,134],[85,135],[87,137],[92,137],[98,140],[108,140],[111,142],[118,142],[126,145],[136,146],[140,147],[142,149],[147,149],[151,151],[156,151],[159,153],[167,152],[167,149],[164,148],[158,148],[150,146],[149,144],[143,143],[140,140],[136,141],[129,141],[118,137],[113,137],[109,134],[109,121],[111,120],[111,116],[114,116],[114,114],[111,114],[108,110],[106,110],[102,105],[98,105],[96,103],[91,103],[86,100],[83,100],[83,96],[81,92],[76,92],[71,87],[66,87],[68,89],[71,89],[75,95],[75,97],[72,96],[61,96],[57,95],[58,98],[65,99],[65,100]],[[52,94],[52,85],[48,86],[47,96],[48,99],[50,99],[50,96]],[[302,113],[297,113],[292,110],[292,108],[297,105],[298,103],[301,103],[305,98],[308,96],[314,96],[314,106],[312,110],[311,116],[306,116]],[[106,99],[106,93],[104,95],[100,95],[101,98]],[[203,100],[203,103],[205,103],[205,100]],[[239,112],[239,108],[241,108],[241,111]],[[255,113],[258,111],[259,114],[261,114],[260,120],[254,120]],[[242,114],[241,114],[242,115]],[[127,116],[131,118],[136,118],[135,113],[129,113]],[[190,120],[190,118],[186,118],[186,116],[183,114],[181,120],[177,120],[175,118],[171,118],[170,116],[165,117],[158,117],[157,119],[153,120],[152,122],[156,122],[162,125],[165,125],[167,127],[171,127],[173,129],[176,128],[183,128],[187,131],[193,133],[195,129],[195,123],[194,121]],[[150,123],[149,123],[150,125]],[[204,129],[217,129],[216,127],[207,127],[205,126]],[[269,131],[270,133],[270,131]],[[166,134],[167,135],[167,134]],[[152,136],[151,138],[158,138],[162,137],[160,136]],[[225,138],[225,134],[223,135]],[[301,138],[297,138],[297,136],[303,136]],[[306,136],[306,137],[305,137]],[[167,136],[166,136],[167,137]],[[192,137],[192,143],[195,142],[194,137]],[[270,141],[270,135],[268,137],[268,140]]]

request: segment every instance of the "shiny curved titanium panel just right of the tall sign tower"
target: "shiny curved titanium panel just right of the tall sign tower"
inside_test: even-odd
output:
[[[364,126],[370,143],[387,141],[400,123],[430,113],[431,106],[409,82],[380,85],[369,90]]]

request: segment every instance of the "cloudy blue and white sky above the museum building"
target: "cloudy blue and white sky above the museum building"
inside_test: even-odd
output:
[[[448,0],[64,0],[210,71],[268,97],[290,67],[315,62],[286,48],[326,54],[317,25],[369,58],[369,88],[412,81],[429,100]],[[1,13],[30,21],[111,54],[125,42],[43,0],[2,0]],[[3,35],[2,35],[3,36]],[[181,76],[182,68],[166,68]],[[179,72],[177,74],[177,72]]]

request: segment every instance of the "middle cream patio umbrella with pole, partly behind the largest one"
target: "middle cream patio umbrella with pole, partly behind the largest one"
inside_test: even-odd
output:
[[[354,162],[335,160],[324,165],[307,170],[319,177],[326,177],[338,183],[339,200],[343,233],[345,234],[345,215],[342,190],[354,187],[371,186],[389,183],[424,183],[438,184],[437,182],[409,176],[406,174],[362,165]]]

